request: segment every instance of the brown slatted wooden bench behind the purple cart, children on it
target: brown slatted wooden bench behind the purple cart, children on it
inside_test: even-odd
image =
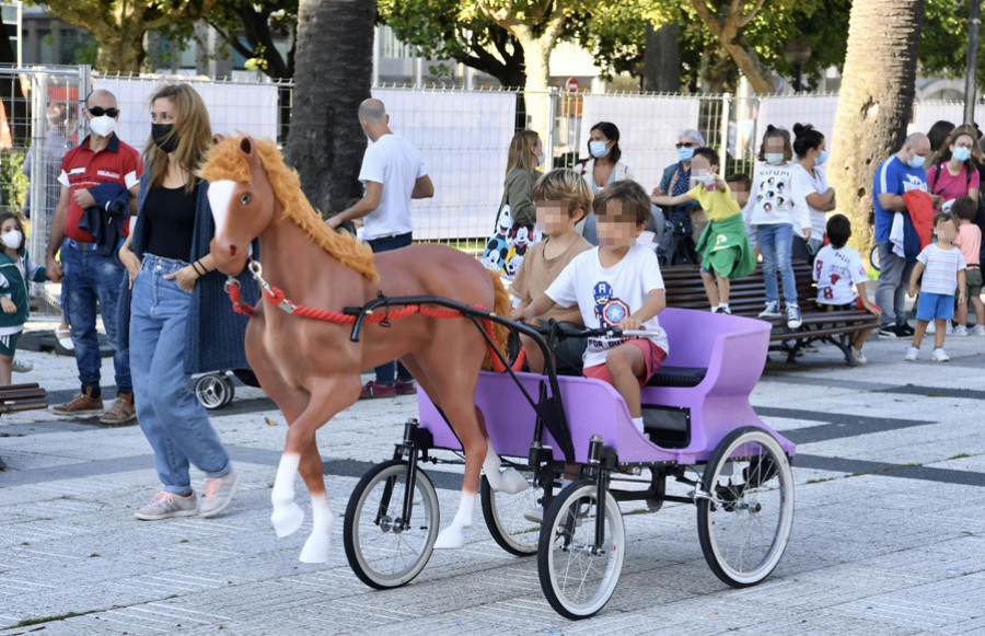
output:
[[[684,309],[708,311],[708,297],[702,284],[702,276],[696,265],[676,265],[662,267],[663,281],[667,286],[667,305]],[[827,343],[837,347],[845,355],[849,367],[858,365],[851,356],[849,337],[862,329],[878,327],[879,320],[866,310],[824,312],[818,309],[814,300],[818,291],[811,277],[811,266],[801,261],[793,262],[793,275],[797,280],[797,298],[803,315],[803,324],[797,329],[787,327],[787,319],[768,319],[773,324],[769,335],[769,350],[787,354],[787,362],[795,362],[798,352],[814,343]],[[761,266],[744,278],[731,281],[729,309],[735,315],[756,317],[766,302],[766,286],[763,282]],[[777,280],[783,298],[783,284]]]

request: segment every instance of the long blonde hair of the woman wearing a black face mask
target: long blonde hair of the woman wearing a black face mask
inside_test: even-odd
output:
[[[212,146],[212,128],[209,125],[209,112],[205,102],[188,84],[164,84],[159,88],[150,96],[151,108],[158,100],[169,100],[174,105],[172,135],[177,137],[178,142],[172,157],[184,172],[195,174]],[[167,173],[170,161],[167,153],[158,148],[151,137],[143,149],[143,155],[151,170],[151,187],[160,187]],[[195,180],[189,178],[185,184],[185,192],[190,193],[193,189]]]

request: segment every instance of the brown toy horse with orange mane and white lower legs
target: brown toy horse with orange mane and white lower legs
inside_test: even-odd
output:
[[[509,308],[498,275],[457,250],[413,245],[374,257],[352,236],[333,232],[301,193],[297,173],[283,164],[273,142],[225,138],[211,149],[200,174],[210,182],[216,220],[211,254],[224,274],[243,270],[250,243],[259,236],[263,276],[285,298],[308,308],[341,312],[380,293],[440,296],[500,314]],[[300,471],[313,517],[302,562],[327,560],[335,525],[315,431],[359,398],[362,369],[399,359],[462,441],[465,477],[459,510],[434,547],[464,545],[463,531],[472,524],[483,469],[494,489],[519,493],[528,486],[512,469],[500,473],[499,458],[475,407],[475,386],[488,354],[472,321],[414,314],[385,326],[368,325],[360,342],[354,343],[350,325],[289,315],[264,304],[253,310],[246,327],[246,358],[289,426],[270,496],[270,521],[278,536],[301,527],[304,513],[294,502],[294,475]],[[507,335],[496,327],[500,350]]]

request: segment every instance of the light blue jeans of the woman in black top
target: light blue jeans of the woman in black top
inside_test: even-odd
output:
[[[207,477],[229,473],[225,448],[195,397],[185,372],[185,332],[192,294],[164,276],[187,265],[146,255],[134,280],[130,305],[130,355],[137,419],[154,449],[164,490],[192,492],[188,464]]]

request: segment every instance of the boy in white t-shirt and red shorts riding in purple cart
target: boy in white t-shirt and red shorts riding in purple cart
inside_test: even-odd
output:
[[[646,329],[648,338],[589,338],[582,372],[615,386],[633,424],[642,432],[640,386],[652,378],[667,358],[667,333],[657,314],[667,307],[663,277],[657,254],[636,245],[650,217],[650,199],[633,181],[605,186],[592,203],[599,246],[582,252],[560,273],[547,291],[513,317],[531,321],[555,304],[577,304],[587,327]]]

